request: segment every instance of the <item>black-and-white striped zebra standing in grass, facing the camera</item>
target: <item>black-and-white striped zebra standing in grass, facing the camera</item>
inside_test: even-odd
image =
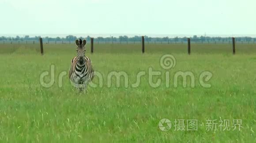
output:
[[[76,89],[81,93],[87,88],[88,83],[94,78],[94,70],[91,60],[85,56],[86,39],[76,39],[77,56],[71,61],[69,79]]]

